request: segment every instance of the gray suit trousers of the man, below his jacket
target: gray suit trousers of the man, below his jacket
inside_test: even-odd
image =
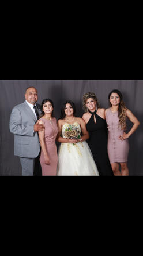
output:
[[[20,157],[20,163],[22,166],[22,176],[33,176],[35,158]]]

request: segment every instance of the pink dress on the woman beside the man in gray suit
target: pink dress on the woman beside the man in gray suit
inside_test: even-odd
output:
[[[40,120],[42,120],[45,126],[44,138],[47,153],[50,158],[50,165],[45,164],[43,150],[41,149],[40,164],[42,167],[42,176],[56,176],[58,164],[57,146],[55,144],[55,139],[58,134],[57,121],[55,117],[53,120],[46,120],[44,118],[40,118]]]

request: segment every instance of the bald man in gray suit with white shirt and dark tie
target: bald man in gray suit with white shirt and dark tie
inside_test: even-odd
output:
[[[25,102],[13,108],[10,116],[10,132],[14,134],[14,156],[20,157],[22,176],[33,176],[35,159],[40,153],[38,132],[44,126],[39,124],[40,105],[37,90],[29,87],[25,91]]]

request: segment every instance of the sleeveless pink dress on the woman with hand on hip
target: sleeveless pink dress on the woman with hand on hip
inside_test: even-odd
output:
[[[129,154],[129,140],[119,140],[123,130],[119,126],[118,111],[113,113],[108,109],[106,114],[108,125],[108,156],[110,163],[126,163]]]

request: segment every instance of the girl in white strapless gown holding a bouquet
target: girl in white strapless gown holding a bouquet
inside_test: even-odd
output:
[[[57,175],[59,176],[99,176],[91,150],[86,139],[84,120],[74,117],[76,109],[74,103],[67,101],[61,110],[61,119],[58,120],[58,150]],[[82,132],[82,136],[81,136]]]

